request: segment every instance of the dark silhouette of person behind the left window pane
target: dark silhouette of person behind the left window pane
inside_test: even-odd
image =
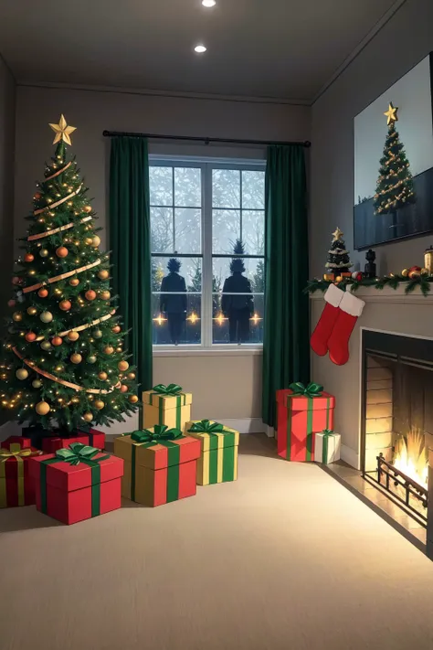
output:
[[[181,262],[172,257],[167,264],[169,273],[161,282],[160,311],[167,316],[174,346],[180,342],[186,318],[186,284],[185,278],[179,275],[180,267]]]

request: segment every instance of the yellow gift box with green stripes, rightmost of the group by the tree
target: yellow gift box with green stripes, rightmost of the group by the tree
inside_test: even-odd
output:
[[[185,434],[197,438],[201,445],[197,462],[197,485],[236,481],[239,432],[219,422],[200,420],[186,422]]]

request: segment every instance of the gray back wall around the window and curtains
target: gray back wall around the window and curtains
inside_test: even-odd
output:
[[[18,87],[16,112],[16,236],[26,231],[35,182],[44,161],[53,152],[53,133],[48,123],[60,113],[77,131],[72,134],[73,152],[94,197],[98,225],[107,226],[107,172],[110,141],[102,131],[139,131],[178,135],[214,136],[257,140],[308,140],[311,115],[305,106],[288,104],[215,101],[158,97],[145,94]],[[151,153],[264,158],[255,148],[227,149],[220,146],[164,144]],[[108,246],[106,230],[102,246]],[[261,412],[261,355],[239,351],[178,352],[154,358],[155,383],[175,382],[193,392],[193,417],[242,421],[259,419]],[[230,381],[227,382],[227,372]],[[206,382],[204,382],[206,378]],[[234,387],[236,387],[234,389]],[[235,422],[233,422],[235,423]],[[131,422],[127,426],[136,427]],[[256,422],[257,426],[257,422]],[[125,431],[125,425],[120,427]],[[115,432],[115,428],[111,429]]]

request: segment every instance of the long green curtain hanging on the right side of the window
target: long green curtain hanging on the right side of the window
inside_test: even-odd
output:
[[[276,426],[275,392],[310,380],[308,222],[304,149],[270,146],[265,184],[263,421]]]

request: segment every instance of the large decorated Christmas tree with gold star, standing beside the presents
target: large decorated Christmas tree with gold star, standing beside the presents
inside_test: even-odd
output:
[[[124,421],[136,409],[135,373],[123,351],[110,291],[109,255],[75,158],[73,126],[50,124],[58,143],[37,185],[26,242],[16,261],[1,403],[13,419],[60,431]]]

